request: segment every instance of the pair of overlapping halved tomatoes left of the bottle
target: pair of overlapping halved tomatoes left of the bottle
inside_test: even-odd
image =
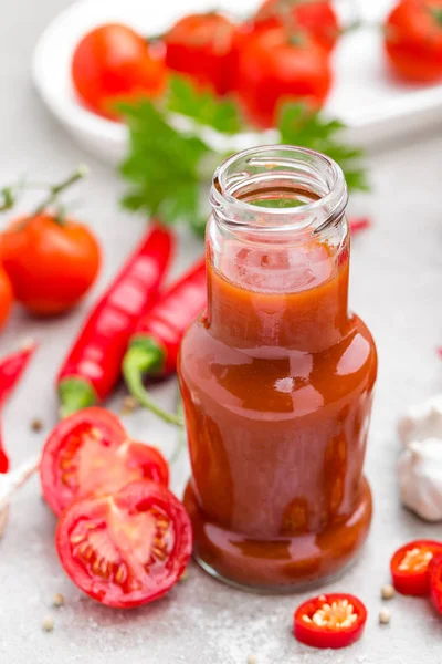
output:
[[[60,517],[55,543],[72,581],[107,606],[162,596],[192,549],[190,519],[168,490],[162,455],[118,418],[86,408],[62,421],[42,454],[43,497]]]

